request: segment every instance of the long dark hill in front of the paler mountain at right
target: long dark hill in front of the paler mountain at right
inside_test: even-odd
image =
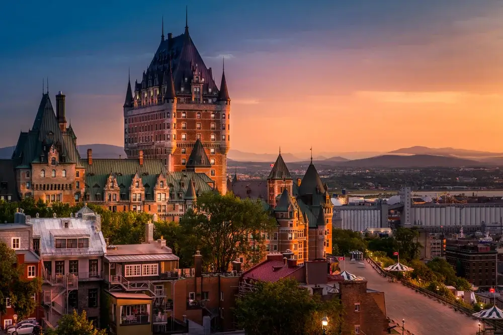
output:
[[[475,160],[457,157],[434,156],[434,155],[382,155],[371,158],[355,159],[348,162],[337,163],[337,166],[347,167],[387,167],[387,168],[425,168],[425,167],[461,167],[461,166],[485,166]]]

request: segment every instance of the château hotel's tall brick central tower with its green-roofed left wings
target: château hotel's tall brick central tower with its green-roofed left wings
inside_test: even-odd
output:
[[[220,89],[185,27],[161,36],[140,83],[124,103],[127,159],[81,158],[66,123],[65,95],[43,94],[32,128],[21,132],[11,159],[0,160],[0,197],[96,203],[178,221],[198,196],[226,192],[230,98]]]

